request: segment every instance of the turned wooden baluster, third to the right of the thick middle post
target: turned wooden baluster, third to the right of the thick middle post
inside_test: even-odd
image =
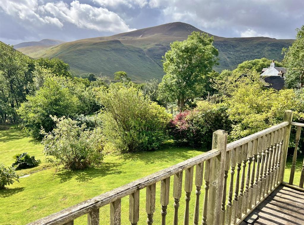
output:
[[[240,186],[240,171],[242,165],[242,148],[237,147],[236,149],[236,160],[237,160],[237,176],[235,179],[234,197],[232,201],[232,213],[231,213],[231,223],[235,224],[237,221],[237,209],[238,209],[238,196],[239,196],[239,186]]]

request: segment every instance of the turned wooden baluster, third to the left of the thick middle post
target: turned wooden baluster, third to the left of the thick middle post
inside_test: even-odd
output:
[[[185,214],[184,214],[184,225],[189,224],[189,202],[190,202],[190,195],[192,192],[193,186],[193,167],[186,169],[185,172],[185,187],[184,190],[186,192],[185,200],[186,200],[186,207],[185,207]]]

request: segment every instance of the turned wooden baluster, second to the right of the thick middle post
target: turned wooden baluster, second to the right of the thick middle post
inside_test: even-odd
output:
[[[228,203],[226,207],[226,216],[225,216],[225,224],[230,225],[231,223],[231,214],[232,214],[232,195],[233,195],[233,179],[234,179],[234,170],[236,165],[235,160],[236,149],[231,150],[231,160],[230,160],[230,184],[229,184],[229,192],[228,192]]]

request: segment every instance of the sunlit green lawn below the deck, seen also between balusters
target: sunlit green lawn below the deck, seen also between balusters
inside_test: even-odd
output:
[[[0,224],[26,224],[33,220],[55,213],[68,206],[72,206],[86,199],[100,195],[113,188],[119,187],[130,181],[142,178],[153,172],[174,165],[178,162],[201,154],[202,151],[191,148],[165,146],[154,152],[133,153],[124,155],[107,155],[104,163],[99,168],[90,168],[84,171],[60,171],[54,174],[54,167],[44,160],[42,145],[39,142],[27,138],[22,131],[0,131],[0,163],[6,166],[14,161],[12,156],[16,153],[28,152],[36,156],[43,163],[40,166],[18,171],[19,174],[30,174],[26,178],[20,178],[7,189],[0,191]],[[295,183],[299,183],[299,171],[302,162],[297,163]],[[285,181],[288,181],[290,161],[285,173]],[[171,179],[171,187],[173,187]],[[157,184],[156,212],[154,223],[161,223],[160,214],[160,185]],[[170,188],[172,192],[172,188]],[[200,212],[202,212],[204,189],[201,194]],[[167,223],[172,223],[173,199],[170,193],[168,205]],[[179,217],[182,221],[185,194],[181,197]],[[195,187],[193,188],[190,221],[193,218]],[[4,207],[3,207],[4,206]],[[128,224],[129,198],[122,199],[122,224]],[[101,224],[109,224],[109,206],[100,209]],[[200,218],[201,220],[201,218]],[[146,224],[145,190],[140,192],[140,222]],[[86,216],[75,221],[75,224],[86,224]]]

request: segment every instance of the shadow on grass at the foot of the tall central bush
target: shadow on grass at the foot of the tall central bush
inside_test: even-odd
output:
[[[206,150],[202,150],[202,149],[177,147],[174,145],[164,145],[160,149],[157,149],[155,151],[147,151],[140,153],[125,153],[125,154],[121,154],[120,157],[124,160],[144,161],[147,164],[154,164],[159,162],[171,163],[172,161],[176,161],[176,160],[183,161],[192,158],[193,156],[190,156],[188,153],[189,150],[202,151],[202,153],[206,152]]]

